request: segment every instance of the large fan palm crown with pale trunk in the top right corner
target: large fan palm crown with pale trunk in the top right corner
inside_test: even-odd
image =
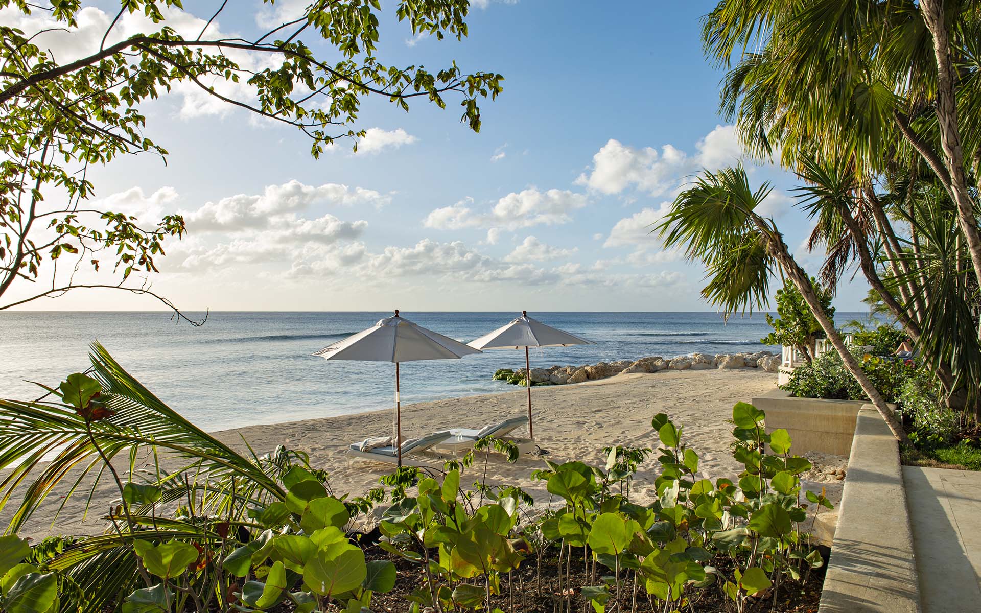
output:
[[[779,149],[789,168],[801,155],[851,159],[863,177],[886,172],[897,151],[915,152],[955,203],[981,279],[970,183],[981,167],[976,2],[725,0],[705,16],[702,40],[731,68],[721,110],[751,153]]]

